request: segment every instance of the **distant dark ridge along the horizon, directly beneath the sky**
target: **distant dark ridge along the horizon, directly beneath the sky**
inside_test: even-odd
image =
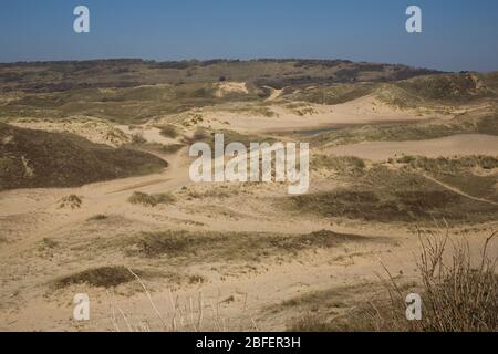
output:
[[[282,88],[297,84],[393,81],[435,73],[405,65],[345,60],[211,60],[155,62],[95,60],[0,64],[0,92],[60,92],[155,84],[250,82]]]

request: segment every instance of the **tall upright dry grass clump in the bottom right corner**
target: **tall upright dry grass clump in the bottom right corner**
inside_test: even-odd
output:
[[[443,241],[423,240],[419,270],[427,299],[424,331],[483,332],[498,331],[497,259],[487,256],[491,235],[475,267],[468,243],[454,248],[450,262],[443,260],[447,237]]]

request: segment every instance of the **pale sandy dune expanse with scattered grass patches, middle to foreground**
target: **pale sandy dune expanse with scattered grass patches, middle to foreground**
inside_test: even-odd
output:
[[[320,72],[323,70],[320,67]],[[299,198],[289,196],[287,186],[278,183],[194,184],[189,178],[188,144],[207,139],[217,129],[231,131],[229,134],[241,139],[271,135],[282,140],[308,140],[309,136],[293,133],[347,125],[452,119],[457,114],[484,115],[473,111],[481,110],[480,102],[458,110],[445,106],[443,111],[447,115],[444,116],[435,113],[439,112],[436,110],[421,115],[421,111],[428,112],[428,108],[401,110],[383,104],[373,95],[325,105],[292,101],[286,90],[269,91],[268,86],[258,102],[255,87],[242,83],[243,77],[230,77],[240,82],[219,83],[219,76],[217,71],[214,83],[209,84],[217,88],[212,105],[205,105],[206,97],[212,100],[210,91],[196,90],[191,100],[179,100],[179,113],[155,107],[163,101],[175,101],[176,96],[164,96],[160,91],[159,98],[147,101],[157,92],[125,90],[133,95],[124,95],[123,101],[97,96],[97,107],[115,105],[122,115],[129,113],[126,111],[131,105],[122,107],[129,103],[141,105],[151,115],[138,114],[133,121],[82,117],[12,123],[27,128],[70,132],[111,146],[127,144],[138,134],[143,145],[131,148],[149,148],[151,154],[169,165],[146,176],[75,188],[44,185],[44,188],[0,191],[0,330],[114,331],[117,326],[126,331],[143,325],[141,329],[167,331],[176,323],[179,330],[191,331],[198,330],[191,319],[201,317],[204,323],[199,327],[208,331],[286,331],[295,317],[311,313],[335,320],[355,311],[356,305],[371,303],[376,295],[371,284],[380,284],[384,266],[400,285],[419,281],[414,254],[418,247],[416,229],[437,232],[436,218],[448,220],[452,233],[468,239],[474,250],[489,237],[489,230],[497,229],[498,183],[494,167],[485,170],[459,166],[461,169],[448,173],[449,178],[445,178],[442,177],[445,174],[434,176],[430,170],[409,170],[407,165],[383,162],[396,155],[498,156],[498,136],[454,135],[333,148],[310,144],[313,157],[315,154],[323,158],[312,159],[310,192]],[[293,88],[303,90],[302,85]],[[100,94],[118,91],[106,88]],[[188,90],[184,94],[188,96]],[[245,102],[246,95],[252,98]],[[1,100],[9,97],[0,95]],[[490,105],[494,110],[495,103]],[[492,127],[494,121],[486,122]],[[166,125],[178,129],[177,138],[160,134],[158,127]],[[283,134],[277,136],[277,133]],[[354,137],[357,142],[364,135]],[[158,146],[179,143],[179,150]],[[370,162],[333,155],[357,156]],[[492,158],[486,158],[486,163],[487,167],[498,164]],[[476,170],[483,174],[473,174]],[[465,178],[457,178],[461,177],[460,173]],[[136,195],[169,199],[147,205],[134,202],[131,197]],[[73,199],[80,200],[75,207],[61,204]],[[496,247],[489,249],[492,256],[498,252]],[[113,267],[142,271],[149,293],[144,292],[135,278],[104,285],[95,285],[84,278],[56,287],[61,278]],[[127,272],[125,275],[129,277]],[[117,278],[120,281],[121,277]],[[357,291],[357,287],[367,289]],[[310,302],[312,312],[295,305],[299,301],[294,299],[330,289],[346,290],[341,292],[341,298],[330,299],[331,306],[321,303],[319,298]],[[72,319],[76,293],[87,293],[91,298],[89,322]],[[357,296],[361,303],[347,304]],[[152,309],[151,299],[163,317],[158,319]],[[276,308],[287,311],[268,310]],[[175,315],[176,322],[172,321]]]

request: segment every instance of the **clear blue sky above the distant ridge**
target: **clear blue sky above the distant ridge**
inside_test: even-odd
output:
[[[90,8],[91,32],[73,31]],[[405,10],[423,10],[423,33]],[[310,58],[498,71],[497,0],[0,0],[0,62]]]

